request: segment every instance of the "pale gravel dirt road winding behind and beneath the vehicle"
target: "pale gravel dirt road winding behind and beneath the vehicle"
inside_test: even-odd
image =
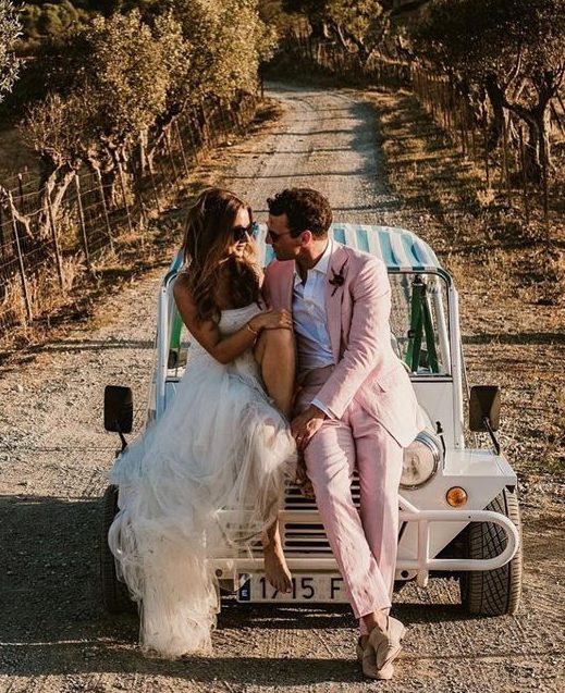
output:
[[[385,188],[371,106],[352,91],[280,87],[271,96],[284,103],[283,117],[214,162],[259,216],[268,195],[293,184],[326,193],[337,220],[414,226],[410,210]],[[355,622],[342,607],[249,608],[228,599],[214,657],[140,656],[136,620],[110,618],[101,607],[99,500],[115,447],[102,431],[102,392],[106,383],[130,384],[143,408],[161,274],[132,283],[86,327],[1,373],[0,691],[560,690],[564,541],[551,480],[523,490],[518,616],[465,618],[454,582],[408,586],[396,612],[409,634],[392,682],[363,679]]]

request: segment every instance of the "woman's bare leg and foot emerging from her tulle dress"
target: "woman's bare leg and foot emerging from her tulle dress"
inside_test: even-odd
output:
[[[290,330],[263,330],[255,348],[267,393],[290,420],[296,371],[294,336]],[[279,592],[292,592],[292,578],[284,558],[275,520],[263,537],[265,573]]]

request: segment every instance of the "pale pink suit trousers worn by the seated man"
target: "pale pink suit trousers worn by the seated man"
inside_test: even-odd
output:
[[[326,378],[310,374],[298,394],[297,411],[306,409]],[[402,458],[401,445],[356,398],[341,419],[324,420],[305,450],[318,511],[361,633],[363,616],[391,606]],[[355,470],[360,511],[351,491]]]

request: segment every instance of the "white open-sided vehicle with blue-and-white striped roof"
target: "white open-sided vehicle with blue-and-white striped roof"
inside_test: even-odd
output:
[[[263,261],[272,250],[258,243]],[[430,577],[454,577],[462,604],[476,615],[514,614],[521,591],[521,531],[516,473],[501,453],[500,393],[495,386],[468,386],[465,378],[457,292],[431,248],[402,228],[333,224],[333,237],[381,258],[392,286],[391,329],[398,358],[410,374],[428,426],[405,449],[400,494],[396,585],[409,580],[426,586]],[[172,399],[186,364],[189,334],[172,298],[181,260],[163,277],[157,317],[157,366],[152,373],[147,422],[159,419]],[[468,430],[465,431],[467,411]],[[123,433],[132,428],[132,394],[108,386],[105,425]],[[470,447],[472,441],[475,446]],[[357,480],[353,482],[358,502]],[[118,490],[105,495],[101,542],[102,589],[111,611],[131,609],[127,590],[116,579],[108,548]],[[228,512],[228,510],[226,510]],[[290,486],[281,513],[281,535],[293,592],[279,594],[262,573],[256,550],[213,559],[223,590],[237,601],[346,602],[342,579],[321,524],[316,502]]]

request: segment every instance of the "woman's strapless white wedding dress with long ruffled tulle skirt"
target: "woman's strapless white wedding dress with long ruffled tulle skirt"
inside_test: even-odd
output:
[[[221,334],[259,310],[224,310]],[[110,472],[120,512],[108,541],[145,654],[209,652],[219,599],[206,559],[241,553],[273,522],[295,455],[251,351],[224,366],[193,339],[174,400]]]

